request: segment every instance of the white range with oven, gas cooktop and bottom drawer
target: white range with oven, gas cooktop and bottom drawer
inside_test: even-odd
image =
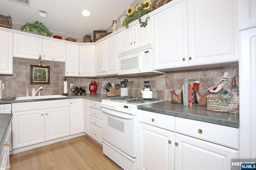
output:
[[[101,101],[103,153],[121,168],[137,169],[138,106],[161,101],[134,96]]]

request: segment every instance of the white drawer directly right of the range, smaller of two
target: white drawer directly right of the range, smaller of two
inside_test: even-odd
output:
[[[174,131],[175,117],[139,110],[140,122]]]

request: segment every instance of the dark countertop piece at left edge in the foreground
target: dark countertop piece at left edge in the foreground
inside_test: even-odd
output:
[[[4,147],[4,141],[6,140],[6,135],[9,133],[9,128],[12,123],[12,114],[0,114],[0,152]]]

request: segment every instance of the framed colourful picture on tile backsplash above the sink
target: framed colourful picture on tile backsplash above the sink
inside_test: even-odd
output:
[[[30,65],[30,84],[50,84],[50,66]]]

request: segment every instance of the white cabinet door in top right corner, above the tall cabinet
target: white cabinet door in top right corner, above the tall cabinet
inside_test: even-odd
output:
[[[239,30],[256,26],[256,2],[255,0],[238,0]]]

